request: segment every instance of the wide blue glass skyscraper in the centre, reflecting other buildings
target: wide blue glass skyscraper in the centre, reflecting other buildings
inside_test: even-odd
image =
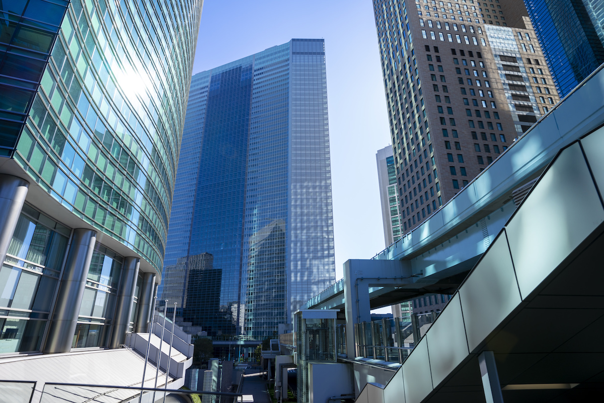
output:
[[[210,335],[272,336],[335,281],[322,39],[193,76],[172,211],[165,283],[213,256],[212,280],[179,284],[178,300]],[[217,307],[204,299],[216,288]]]

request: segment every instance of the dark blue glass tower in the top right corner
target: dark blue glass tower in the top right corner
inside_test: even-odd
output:
[[[604,63],[604,3],[525,0],[545,61],[564,97]]]

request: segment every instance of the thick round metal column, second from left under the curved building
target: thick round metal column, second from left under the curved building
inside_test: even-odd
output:
[[[45,353],[65,353],[71,350],[96,240],[97,232],[94,230],[73,230],[57,301],[48,326],[43,348]]]

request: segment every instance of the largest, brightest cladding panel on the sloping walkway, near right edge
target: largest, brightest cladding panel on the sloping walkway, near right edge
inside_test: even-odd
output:
[[[565,149],[506,227],[522,298],[526,298],[604,221],[579,144]]]

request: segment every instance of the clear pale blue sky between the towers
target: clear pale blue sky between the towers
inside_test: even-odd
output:
[[[375,153],[390,144],[371,0],[205,0],[193,73],[325,39],[336,277],[384,249]]]

